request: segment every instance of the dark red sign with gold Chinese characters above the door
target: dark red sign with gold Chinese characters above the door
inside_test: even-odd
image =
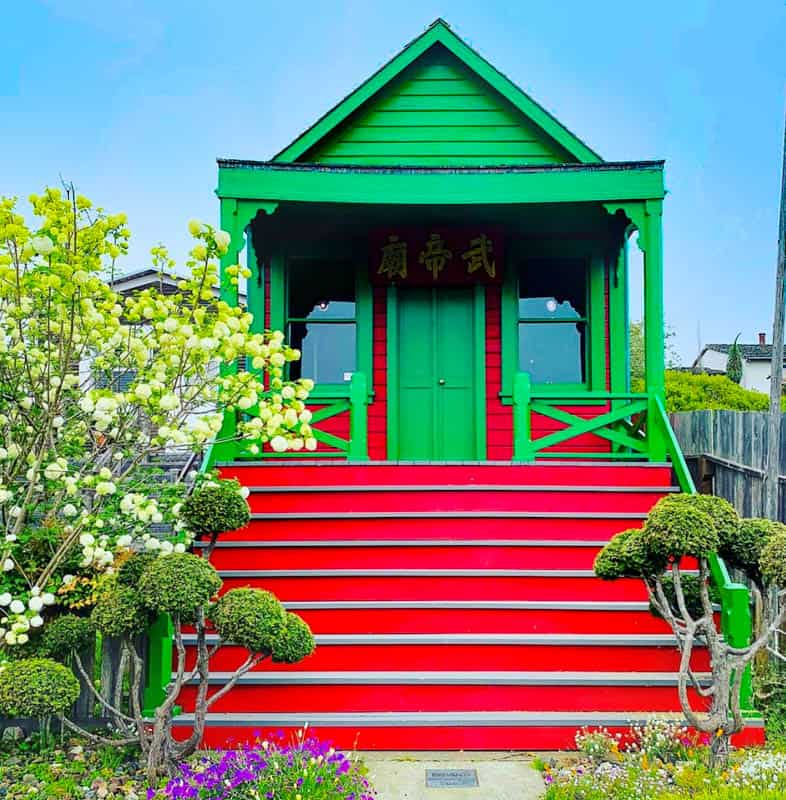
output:
[[[371,241],[377,286],[467,286],[502,282],[502,235],[491,229],[389,230]]]

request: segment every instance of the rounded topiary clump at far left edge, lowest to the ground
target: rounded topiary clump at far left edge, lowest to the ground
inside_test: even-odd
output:
[[[64,714],[79,697],[79,681],[50,658],[14,661],[0,672],[0,715],[51,717]]]

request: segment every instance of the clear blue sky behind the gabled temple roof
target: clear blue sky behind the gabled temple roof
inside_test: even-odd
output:
[[[609,160],[665,158],[666,318],[771,331],[784,0],[25,0],[3,10],[0,194],[59,176],[134,234],[216,219],[215,158],[265,159],[437,16]],[[10,25],[9,25],[10,23]]]

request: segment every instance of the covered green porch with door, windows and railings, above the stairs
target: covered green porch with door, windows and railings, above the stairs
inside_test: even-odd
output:
[[[222,269],[246,261],[255,324],[284,331],[303,354],[292,377],[316,383],[308,456],[663,460],[662,166],[219,162]],[[628,377],[633,231],[640,393]],[[226,272],[222,293],[238,302]],[[249,455],[227,444],[221,459]]]

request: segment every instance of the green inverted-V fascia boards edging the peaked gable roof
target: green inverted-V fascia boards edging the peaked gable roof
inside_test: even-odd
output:
[[[462,61],[470,70],[499,92],[508,102],[530,119],[574,158],[584,163],[599,163],[603,159],[590,149],[556,117],[536,103],[513,81],[486,61],[463,39],[457,36],[442,19],[435,20],[429,28],[410,42],[398,55],[375,72],[340,103],[320,117],[294,142],[273,157],[277,163],[289,163],[301,158],[308,150],[335,130],[350,114],[357,111],[380,89],[394,80],[403,70],[435,44],[441,44]]]

